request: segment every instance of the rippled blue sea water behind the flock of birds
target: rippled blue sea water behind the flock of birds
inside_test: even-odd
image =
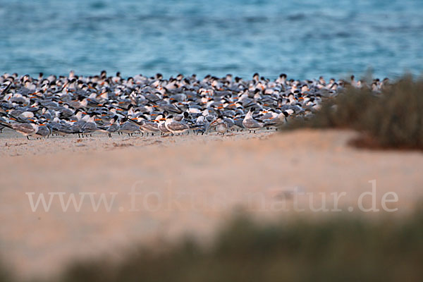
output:
[[[0,73],[420,75],[422,15],[422,0],[0,0]]]

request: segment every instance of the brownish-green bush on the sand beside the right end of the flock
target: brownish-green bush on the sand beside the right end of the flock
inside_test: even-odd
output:
[[[285,128],[352,128],[363,133],[356,145],[423,149],[422,109],[423,79],[405,76],[378,94],[348,87],[312,118],[295,118]]]

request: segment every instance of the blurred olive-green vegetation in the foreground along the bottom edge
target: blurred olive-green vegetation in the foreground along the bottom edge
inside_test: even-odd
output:
[[[422,210],[401,220],[341,214],[273,225],[243,216],[210,247],[135,248],[119,263],[76,262],[57,281],[422,281],[422,257]]]

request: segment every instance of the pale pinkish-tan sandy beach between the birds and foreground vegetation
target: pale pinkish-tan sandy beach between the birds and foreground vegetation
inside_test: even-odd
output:
[[[71,259],[118,259],[135,243],[186,234],[207,242],[239,210],[263,219],[329,214],[310,212],[307,193],[314,195],[315,207],[324,193],[331,207],[330,193],[345,192],[339,207],[356,212],[360,193],[372,191],[370,180],[376,180],[379,208],[385,192],[396,192],[398,202],[388,207],[398,208],[396,214],[410,211],[423,194],[423,154],[355,149],[347,145],[355,135],[297,130],[26,140],[4,131],[1,254],[23,277],[57,274]],[[30,197],[36,202],[44,193],[48,203],[49,192],[49,212],[42,204],[33,212]],[[79,212],[72,203],[63,211],[60,195],[66,203],[71,193],[78,202],[86,194]],[[102,193],[109,210],[99,204],[94,211],[90,199]],[[297,200],[305,212],[295,212]]]

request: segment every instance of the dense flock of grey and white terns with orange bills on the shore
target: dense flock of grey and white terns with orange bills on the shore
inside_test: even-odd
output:
[[[374,91],[386,80],[374,80]],[[225,134],[230,130],[276,128],[293,116],[312,116],[322,99],[336,96],[345,85],[362,87],[361,80],[251,80],[233,75],[196,75],[164,79],[135,75],[38,77],[0,76],[0,130],[10,128],[28,139],[49,135],[94,132],[168,134],[184,132]]]

